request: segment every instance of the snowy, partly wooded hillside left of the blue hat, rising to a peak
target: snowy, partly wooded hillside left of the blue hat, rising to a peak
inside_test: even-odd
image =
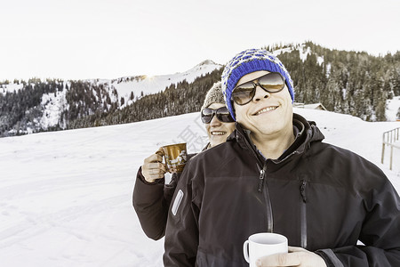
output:
[[[213,61],[203,61],[182,73],[153,77],[4,81],[0,83],[0,136],[91,126],[78,126],[80,123],[74,121],[92,115],[106,117],[148,94],[182,83],[192,84],[196,78],[221,67]]]

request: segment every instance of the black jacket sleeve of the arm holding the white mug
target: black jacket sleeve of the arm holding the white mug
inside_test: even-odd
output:
[[[364,197],[367,215],[359,240],[364,246],[316,251],[328,267],[400,266],[400,198],[385,177],[383,184]]]

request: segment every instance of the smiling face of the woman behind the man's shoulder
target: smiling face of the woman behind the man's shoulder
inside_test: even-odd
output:
[[[208,106],[208,109],[220,109],[222,107],[225,107],[225,105],[221,103],[212,103]],[[227,141],[229,134],[232,134],[235,130],[235,122],[221,122],[217,116],[214,116],[209,124],[205,124],[205,130],[207,131],[210,145],[213,147]]]

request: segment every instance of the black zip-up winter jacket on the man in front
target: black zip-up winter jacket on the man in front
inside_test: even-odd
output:
[[[293,116],[292,146],[264,159],[240,125],[185,167],[168,214],[165,266],[248,266],[244,240],[276,232],[327,266],[400,266],[400,198],[379,167]],[[357,240],[365,246],[357,246]]]

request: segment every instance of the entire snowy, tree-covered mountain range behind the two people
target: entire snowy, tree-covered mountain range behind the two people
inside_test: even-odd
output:
[[[290,70],[296,102],[322,103],[328,110],[365,121],[400,118],[399,53],[376,57],[311,42],[266,48]],[[193,112],[200,109],[206,91],[220,79],[221,67],[203,61],[182,73],[152,77],[2,82],[0,136]]]

